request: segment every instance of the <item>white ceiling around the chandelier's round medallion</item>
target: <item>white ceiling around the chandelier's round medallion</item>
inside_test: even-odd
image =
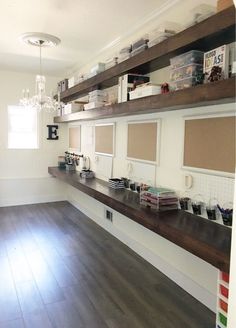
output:
[[[39,49],[19,35],[44,32],[61,39],[43,49],[44,73],[63,76],[170,0],[0,0],[0,69],[37,73]]]

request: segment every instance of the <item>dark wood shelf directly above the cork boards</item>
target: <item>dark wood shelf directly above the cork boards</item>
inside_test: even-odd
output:
[[[148,96],[120,104],[95,108],[87,111],[54,117],[55,123],[96,120],[118,116],[158,113],[184,108],[216,105],[233,102],[235,98],[235,79],[230,78],[214,83]]]

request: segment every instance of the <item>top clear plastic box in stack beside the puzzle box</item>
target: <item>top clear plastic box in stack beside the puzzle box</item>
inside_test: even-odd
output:
[[[191,64],[203,65],[203,59],[204,59],[204,52],[199,50],[191,50],[182,55],[171,58],[170,65],[172,69],[176,69]]]

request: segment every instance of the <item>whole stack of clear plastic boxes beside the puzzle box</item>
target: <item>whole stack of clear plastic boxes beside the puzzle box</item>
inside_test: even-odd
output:
[[[199,84],[203,74],[204,52],[191,50],[170,59],[170,80],[174,89]]]

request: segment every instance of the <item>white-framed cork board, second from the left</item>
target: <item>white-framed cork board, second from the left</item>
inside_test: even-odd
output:
[[[114,124],[95,126],[95,153],[113,155]]]

